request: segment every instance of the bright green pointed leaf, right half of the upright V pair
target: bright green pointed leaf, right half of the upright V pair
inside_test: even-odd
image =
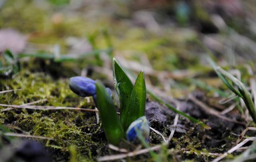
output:
[[[146,104],[146,84],[144,71],[140,71],[134,88],[132,89],[132,94],[130,97],[130,102],[128,104],[128,109],[124,110],[124,130],[130,126],[134,120],[145,115],[145,104]]]

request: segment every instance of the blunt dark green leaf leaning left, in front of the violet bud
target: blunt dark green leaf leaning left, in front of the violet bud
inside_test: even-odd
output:
[[[102,83],[96,81],[96,106],[100,112],[100,120],[106,139],[113,145],[118,145],[124,138],[124,130],[116,113],[114,102]]]

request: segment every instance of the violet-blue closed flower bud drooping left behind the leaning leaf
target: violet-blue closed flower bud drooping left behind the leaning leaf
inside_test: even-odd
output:
[[[92,96],[94,102],[96,103],[96,81],[88,77],[70,77],[69,87],[70,89],[80,97],[90,97]],[[109,88],[106,88],[108,94],[112,97]]]

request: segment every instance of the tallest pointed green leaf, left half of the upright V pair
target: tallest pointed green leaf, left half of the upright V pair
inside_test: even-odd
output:
[[[128,116],[126,116],[126,112],[128,111],[128,104],[130,102],[130,96],[134,86],[115,58],[113,58],[113,75],[115,88],[120,100],[120,120],[122,126],[126,128],[125,120],[128,118]]]

